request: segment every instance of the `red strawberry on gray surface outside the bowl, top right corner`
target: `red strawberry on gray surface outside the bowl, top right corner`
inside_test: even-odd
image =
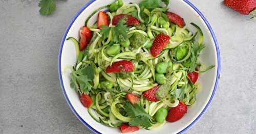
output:
[[[256,9],[255,0],[224,0],[224,4],[241,14],[248,15]],[[255,10],[256,11],[256,10]]]

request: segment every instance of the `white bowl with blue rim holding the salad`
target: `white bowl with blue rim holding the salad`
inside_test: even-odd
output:
[[[124,3],[139,3],[140,1],[141,0],[124,0]],[[76,63],[76,53],[73,42],[66,41],[66,38],[72,36],[78,39],[78,31],[80,27],[84,25],[86,18],[97,8],[113,2],[114,0],[92,0],[84,5],[69,24],[59,49],[58,69],[59,80],[63,94],[66,97],[66,100],[76,117],[95,133],[115,134],[120,133],[120,131],[118,128],[104,126],[93,120],[93,118],[91,118],[91,116],[88,114],[87,109],[84,108],[84,106],[81,104],[76,91],[70,88],[69,73],[63,74],[62,71],[66,65],[74,65]],[[194,22],[200,26],[204,33],[204,43],[206,45],[206,48],[200,55],[200,59],[205,66],[216,65],[216,67],[200,75],[199,82],[202,85],[202,90],[197,94],[196,103],[192,106],[189,106],[187,114],[181,120],[175,123],[167,123],[164,125],[164,127],[157,131],[139,130],[134,132],[135,134],[183,133],[202,117],[202,115],[207,110],[212,98],[214,97],[215,91],[217,89],[220,77],[220,51],[217,39],[211,29],[211,26],[203,14],[187,0],[172,0],[170,1],[169,6],[169,11],[175,12],[184,18],[189,30],[194,30],[194,28],[189,24],[190,22]],[[92,17],[92,22],[95,22],[96,18],[96,15]]]

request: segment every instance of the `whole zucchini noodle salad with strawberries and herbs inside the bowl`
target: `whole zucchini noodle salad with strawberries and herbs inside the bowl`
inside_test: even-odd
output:
[[[93,120],[123,133],[158,130],[182,119],[197,101],[198,78],[215,66],[200,62],[200,26],[168,11],[172,6],[117,0],[84,18],[78,38],[66,38],[76,63],[62,73]]]

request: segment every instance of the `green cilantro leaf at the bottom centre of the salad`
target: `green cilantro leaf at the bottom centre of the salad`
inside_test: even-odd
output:
[[[132,118],[129,125],[131,126],[142,126],[142,127],[150,127],[152,126],[150,119],[152,118],[148,115],[143,107],[139,104],[132,105],[130,102],[125,102],[124,110],[128,116]]]

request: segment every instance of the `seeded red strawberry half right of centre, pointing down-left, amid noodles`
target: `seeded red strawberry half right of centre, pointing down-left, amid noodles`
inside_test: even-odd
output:
[[[170,37],[163,33],[156,36],[153,45],[150,48],[151,55],[157,57],[163,48],[168,44]]]

